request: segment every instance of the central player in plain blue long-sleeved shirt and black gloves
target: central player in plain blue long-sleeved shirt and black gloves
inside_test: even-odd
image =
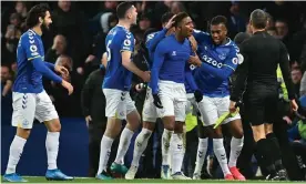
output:
[[[163,39],[155,50],[151,86],[164,127],[174,131],[170,141],[172,177],[187,180],[181,172],[184,156],[182,134],[186,105],[185,65],[192,54],[187,38],[192,35],[193,22],[185,12],[178,13],[174,20],[175,34]]]

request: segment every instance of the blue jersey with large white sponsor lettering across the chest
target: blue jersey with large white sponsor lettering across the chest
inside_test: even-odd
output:
[[[198,45],[197,55],[204,62],[193,73],[198,89],[204,95],[212,98],[228,95],[228,78],[238,65],[238,48],[231,39],[227,39],[225,44],[216,45],[213,43],[211,35],[202,31],[195,30],[193,35]],[[207,72],[207,68],[204,71],[206,64],[212,69],[220,69],[220,75],[222,76],[224,76],[226,70],[228,76],[220,78]]]

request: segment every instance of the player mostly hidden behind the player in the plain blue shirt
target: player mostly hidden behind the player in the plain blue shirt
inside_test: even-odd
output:
[[[162,17],[163,30],[150,33],[146,37],[145,44],[150,55],[150,59],[149,59],[150,67],[152,67],[153,55],[157,43],[162,39],[164,39],[166,34],[173,33],[173,29],[172,29],[173,18],[174,18],[173,13],[170,13],[170,12],[164,13]],[[155,122],[157,119],[156,106],[153,103],[153,96],[152,96],[152,90],[150,88],[150,83],[149,83],[149,88],[146,89],[146,98],[145,98],[142,113],[143,113],[142,114],[143,129],[135,140],[133,161],[129,172],[125,175],[125,178],[128,180],[133,180],[135,177],[135,174],[139,168],[140,157],[147,145],[147,141],[152,132],[154,131]],[[162,137],[162,156],[163,156],[162,172],[161,172],[162,178],[170,177],[169,161],[167,161],[169,146],[165,146],[165,145],[169,145],[171,134],[172,132],[164,130],[163,137]]]

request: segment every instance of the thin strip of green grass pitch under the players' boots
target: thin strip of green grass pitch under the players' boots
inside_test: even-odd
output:
[[[162,183],[172,183],[172,184],[183,184],[183,183],[224,183],[224,184],[238,184],[238,183],[254,183],[254,184],[266,184],[266,183],[293,183],[293,182],[267,182],[267,181],[222,181],[222,180],[198,180],[198,181],[176,181],[176,180],[152,180],[152,178],[137,178],[137,180],[112,180],[112,181],[99,181],[93,177],[75,177],[74,181],[67,181],[67,182],[57,182],[57,181],[47,181],[43,176],[24,176],[29,183],[145,183],[145,184],[162,184]],[[1,180],[2,183],[3,180]],[[306,182],[294,182],[297,184],[302,184]]]

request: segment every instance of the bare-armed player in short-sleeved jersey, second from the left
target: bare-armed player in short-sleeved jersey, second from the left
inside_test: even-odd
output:
[[[108,65],[102,88],[106,98],[108,125],[101,140],[100,164],[96,174],[100,180],[111,178],[105,171],[106,163],[113,140],[121,131],[121,120],[124,119],[128,120],[128,124],[121,134],[116,159],[111,165],[111,171],[121,174],[128,172],[123,159],[140,123],[140,114],[129,93],[132,72],[144,81],[150,81],[150,72],[141,71],[131,61],[134,51],[134,37],[129,29],[136,23],[137,12],[135,7],[130,2],[122,2],[116,8],[116,16],[119,23],[109,32],[105,39]]]

